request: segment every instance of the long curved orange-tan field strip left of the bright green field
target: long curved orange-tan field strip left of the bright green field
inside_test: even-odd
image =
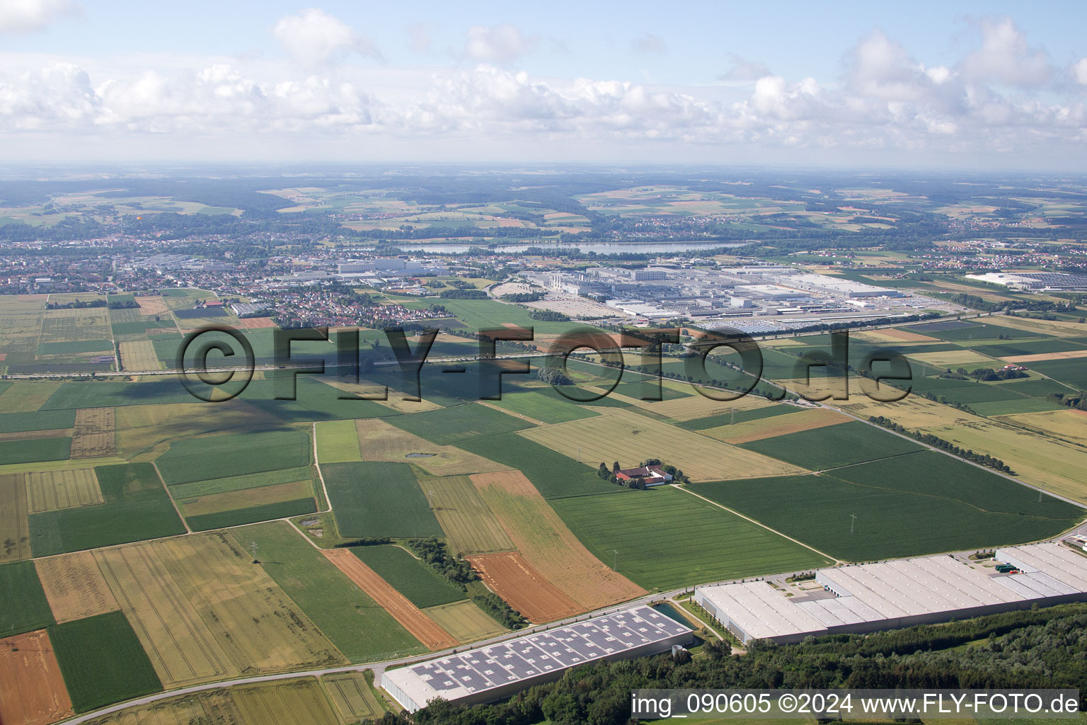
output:
[[[517,551],[585,611],[646,593],[585,548],[520,471],[472,476],[472,483]]]

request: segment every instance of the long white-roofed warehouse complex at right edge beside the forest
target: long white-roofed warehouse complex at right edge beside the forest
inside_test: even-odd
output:
[[[695,590],[695,601],[744,642],[795,642],[1084,600],[1087,558],[1055,542],[997,549],[988,560],[941,554],[824,568],[805,589],[747,582]]]

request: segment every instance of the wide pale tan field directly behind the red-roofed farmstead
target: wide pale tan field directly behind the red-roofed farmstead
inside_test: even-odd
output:
[[[675,402],[675,401],[664,401]],[[805,473],[803,468],[713,440],[622,408],[601,409],[596,417],[518,430],[563,455],[596,468],[600,461],[633,466],[659,458],[691,480],[730,480]]]

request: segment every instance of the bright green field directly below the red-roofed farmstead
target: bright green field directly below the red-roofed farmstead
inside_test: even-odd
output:
[[[829,561],[686,491],[622,489],[620,496],[550,501],[600,561],[647,589],[673,589]]]

